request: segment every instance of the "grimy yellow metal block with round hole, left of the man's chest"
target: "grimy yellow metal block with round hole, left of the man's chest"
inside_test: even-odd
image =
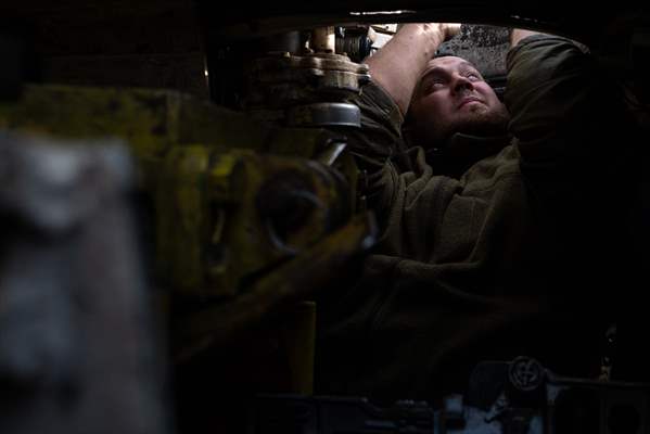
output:
[[[345,181],[314,162],[194,145],[173,149],[160,171],[158,270],[193,294],[237,294],[351,213]]]

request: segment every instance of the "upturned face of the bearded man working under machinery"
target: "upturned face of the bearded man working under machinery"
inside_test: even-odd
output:
[[[418,144],[442,142],[455,132],[506,132],[508,111],[476,68],[460,58],[429,62],[415,90],[409,116]]]

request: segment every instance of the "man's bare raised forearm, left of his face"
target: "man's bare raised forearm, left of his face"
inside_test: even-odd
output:
[[[402,114],[426,63],[445,40],[458,34],[459,24],[407,24],[374,55],[366,60],[372,79],[388,93]]]

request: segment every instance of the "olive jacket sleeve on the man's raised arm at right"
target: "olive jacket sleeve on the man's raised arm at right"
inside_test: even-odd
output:
[[[616,80],[595,58],[569,39],[535,35],[510,50],[507,66],[509,129],[530,186],[557,195],[615,176],[634,127]]]

